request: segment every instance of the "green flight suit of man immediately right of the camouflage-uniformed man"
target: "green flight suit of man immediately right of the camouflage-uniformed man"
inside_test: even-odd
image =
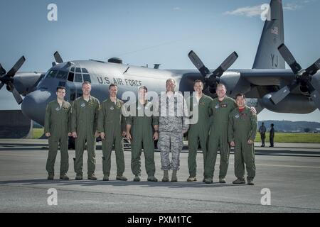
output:
[[[206,96],[205,94],[199,99],[199,103],[196,97],[190,97],[189,110],[193,111],[195,108],[198,108],[198,122],[191,124],[188,131],[188,168],[190,177],[196,177],[196,155],[199,141],[203,153],[203,166],[205,166],[206,163],[208,133],[210,128],[209,122],[212,113],[210,103],[212,100],[210,96]]]

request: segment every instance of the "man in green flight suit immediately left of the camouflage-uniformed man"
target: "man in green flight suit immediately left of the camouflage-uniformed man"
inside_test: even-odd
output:
[[[148,89],[143,86],[139,88],[139,99],[134,104],[132,115],[126,118],[127,139],[131,140],[132,160],[131,169],[134,181],[139,182],[141,176],[142,145],[146,165],[147,180],[157,182],[154,177],[156,167],[154,164],[154,140],[158,140],[159,117],[153,114],[153,105],[146,100]],[[131,107],[131,106],[130,106]]]

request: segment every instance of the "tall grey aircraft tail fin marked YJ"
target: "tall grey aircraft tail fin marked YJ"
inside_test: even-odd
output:
[[[278,47],[284,43],[282,0],[271,0],[252,69],[284,69]]]

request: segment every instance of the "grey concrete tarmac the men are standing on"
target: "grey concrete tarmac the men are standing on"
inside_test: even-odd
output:
[[[70,180],[60,180],[60,154],[55,179],[47,180],[48,140],[0,140],[0,212],[320,212],[320,144],[280,144],[260,148],[256,144],[255,185],[232,184],[234,156],[230,154],[227,183],[218,183],[220,155],[213,184],[204,184],[203,156],[197,155],[197,182],[188,178],[188,150],[181,153],[178,182],[161,182],[160,153],[155,153],[156,177],[147,182],[142,153],[142,181],[133,182],[130,150],[124,151],[127,182],[117,181],[115,155],[109,182],[102,181],[102,150],[96,151],[97,181],[75,181],[73,157],[69,151]],[[171,174],[171,172],[170,172]],[[56,189],[58,205],[48,205],[48,189]],[[270,205],[266,192],[270,192]]]

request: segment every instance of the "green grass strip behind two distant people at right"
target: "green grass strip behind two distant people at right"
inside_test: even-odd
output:
[[[260,133],[255,141],[261,142]],[[269,143],[269,133],[266,133],[265,142]],[[274,133],[274,143],[320,143],[320,133]]]

